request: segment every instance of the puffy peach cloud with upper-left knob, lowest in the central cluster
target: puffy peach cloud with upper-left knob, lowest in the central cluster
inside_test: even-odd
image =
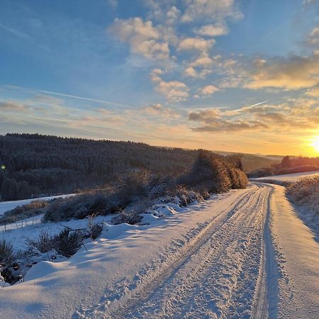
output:
[[[152,82],[155,83],[155,89],[163,94],[167,100],[172,102],[186,101],[189,97],[189,87],[180,81],[164,81],[161,77],[161,69],[153,69],[150,74]]]

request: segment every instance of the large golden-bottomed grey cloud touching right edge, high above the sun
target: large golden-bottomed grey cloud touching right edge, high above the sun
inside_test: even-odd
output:
[[[291,56],[276,58],[258,63],[249,73],[247,89],[262,89],[265,87],[282,89],[303,89],[318,84],[319,55],[310,57]]]

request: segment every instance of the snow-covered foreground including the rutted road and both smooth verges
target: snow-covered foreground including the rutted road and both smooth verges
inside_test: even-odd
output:
[[[1,317],[317,318],[318,242],[284,187],[256,182],[162,211],[36,264],[0,289]]]

